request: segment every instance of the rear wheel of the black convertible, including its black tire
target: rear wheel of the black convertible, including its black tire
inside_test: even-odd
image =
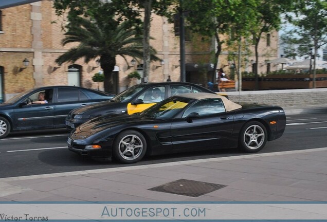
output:
[[[259,152],[267,142],[266,127],[258,122],[251,121],[246,123],[239,137],[240,148],[247,153]]]

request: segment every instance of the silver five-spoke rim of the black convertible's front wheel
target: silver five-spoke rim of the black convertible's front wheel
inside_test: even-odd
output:
[[[125,160],[135,160],[142,154],[143,146],[137,135],[126,135],[119,141],[119,155]]]

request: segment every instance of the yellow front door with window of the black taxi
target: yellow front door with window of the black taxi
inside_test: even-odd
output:
[[[153,106],[154,104],[156,104],[157,102],[164,100],[165,95],[166,95],[166,87],[165,86],[149,87],[142,94],[137,96],[134,100],[132,100],[131,103],[129,103],[127,105],[127,112],[128,112],[128,114],[142,112],[144,109],[147,109],[150,106]],[[134,101],[136,101],[137,99],[142,100],[143,103],[132,105],[132,103]]]

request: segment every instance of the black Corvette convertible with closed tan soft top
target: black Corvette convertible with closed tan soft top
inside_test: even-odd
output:
[[[172,96],[141,113],[101,116],[77,127],[68,149],[81,155],[113,156],[134,163],[144,155],[240,147],[260,151],[283,135],[279,106],[236,104],[223,96]]]

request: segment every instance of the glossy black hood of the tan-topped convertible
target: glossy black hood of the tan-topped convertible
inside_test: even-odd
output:
[[[123,118],[122,118],[123,117]],[[137,124],[137,123],[147,123],[153,122],[156,119],[142,117],[140,115],[121,115],[121,114],[112,114],[112,115],[105,115],[98,118],[94,118],[85,122],[84,124],[80,125],[77,130],[80,132],[89,133],[94,135],[98,132],[111,129],[116,126],[123,126],[129,124]]]

